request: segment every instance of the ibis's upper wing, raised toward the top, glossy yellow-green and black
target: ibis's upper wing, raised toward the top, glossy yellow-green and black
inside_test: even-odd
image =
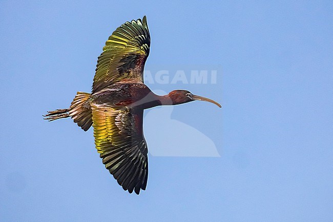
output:
[[[147,18],[118,27],[97,60],[92,93],[124,79],[143,83],[143,68],[149,55],[150,34]]]

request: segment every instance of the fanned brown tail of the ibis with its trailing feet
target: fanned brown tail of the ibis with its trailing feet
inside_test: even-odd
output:
[[[71,117],[84,131],[87,131],[93,124],[92,111],[90,106],[90,93],[77,92],[69,109],[57,109],[48,111],[43,115],[46,120],[53,121],[60,118]]]

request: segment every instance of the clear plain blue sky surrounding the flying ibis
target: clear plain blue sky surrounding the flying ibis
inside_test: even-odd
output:
[[[102,165],[92,129],[41,115],[90,92],[108,36],[143,15],[147,69],[220,67],[216,84],[149,87],[223,108],[193,102],[161,117],[199,130],[221,157],[150,154],[137,196]],[[333,221],[331,1],[1,1],[0,33],[0,221]],[[168,144],[149,126],[150,149]],[[192,144],[186,129],[170,133]]]

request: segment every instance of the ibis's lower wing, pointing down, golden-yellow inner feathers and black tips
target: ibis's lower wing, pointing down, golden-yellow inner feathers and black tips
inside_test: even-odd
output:
[[[92,107],[95,145],[103,164],[124,190],[139,194],[148,179],[143,110]]]

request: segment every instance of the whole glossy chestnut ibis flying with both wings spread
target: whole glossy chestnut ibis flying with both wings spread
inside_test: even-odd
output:
[[[148,148],[143,136],[143,110],[194,100],[220,104],[174,90],[156,95],[143,83],[143,68],[150,51],[146,16],[126,22],[109,37],[97,60],[92,92],[77,92],[68,109],[48,111],[52,121],[71,117],[84,131],[94,128],[95,145],[102,162],[118,184],[130,193],[145,190]]]

